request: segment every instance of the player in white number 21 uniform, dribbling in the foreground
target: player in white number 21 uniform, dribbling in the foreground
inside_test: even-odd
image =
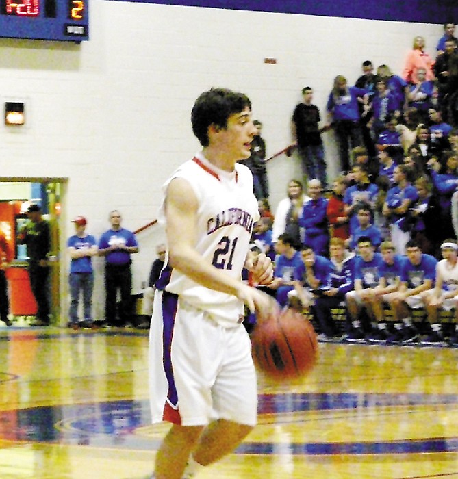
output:
[[[203,150],[165,183],[160,211],[168,257],[151,320],[151,413],[153,423],[173,426],[157,452],[156,479],[193,477],[255,426],[257,385],[243,307],[262,316],[272,301],[240,279],[245,266],[255,283],[272,280],[270,259],[249,253],[259,213],[251,172],[236,164],[250,156],[257,133],[251,102],[214,88],[196,100],[191,120]]]

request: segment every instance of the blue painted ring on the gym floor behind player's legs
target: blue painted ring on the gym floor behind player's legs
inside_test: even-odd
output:
[[[363,409],[381,414],[385,413],[383,411],[385,406],[411,406],[411,412],[414,413],[416,406],[444,404],[455,406],[458,404],[458,396],[380,393],[262,394],[259,396],[259,419],[262,424],[265,424],[263,419],[268,419],[269,415],[306,411],[346,411],[348,413],[353,411],[360,415]],[[348,415],[345,417],[348,419]],[[307,417],[303,420],[307,420]],[[300,422],[301,419],[292,417],[292,421]],[[155,450],[160,444],[160,438],[148,437],[137,432],[138,428],[149,426],[151,422],[147,400],[122,400],[2,411],[0,422],[10,424],[10,438],[17,441],[146,451]],[[244,442],[236,450],[236,454],[333,456],[457,451],[458,437],[308,443],[305,430],[304,441]]]

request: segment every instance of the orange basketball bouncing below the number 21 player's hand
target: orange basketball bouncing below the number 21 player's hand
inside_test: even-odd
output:
[[[272,309],[251,335],[253,361],[275,380],[305,376],[318,358],[318,340],[309,320],[294,309]]]

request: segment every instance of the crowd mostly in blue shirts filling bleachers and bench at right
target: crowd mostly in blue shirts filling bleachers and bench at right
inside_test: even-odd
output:
[[[354,86],[338,75],[327,122],[313,90],[292,114],[307,187],[293,179],[275,216],[259,198],[253,244],[275,259],[268,292],[313,315],[336,339],[331,310],[344,307],[347,341],[458,346],[458,40],[444,25],[437,56],[414,38],[401,75],[362,64]],[[328,184],[322,131],[333,129],[341,173]],[[273,221],[273,224],[272,224]],[[421,321],[412,320],[412,311]],[[458,313],[455,313],[455,316]]]

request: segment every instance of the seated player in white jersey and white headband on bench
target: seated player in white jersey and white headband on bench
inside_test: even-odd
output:
[[[458,318],[458,245],[455,239],[446,239],[441,245],[442,257],[436,265],[435,288],[426,302],[431,333],[422,340],[424,344],[440,343],[444,340],[438,321],[439,309],[450,311],[455,308],[455,324]]]

